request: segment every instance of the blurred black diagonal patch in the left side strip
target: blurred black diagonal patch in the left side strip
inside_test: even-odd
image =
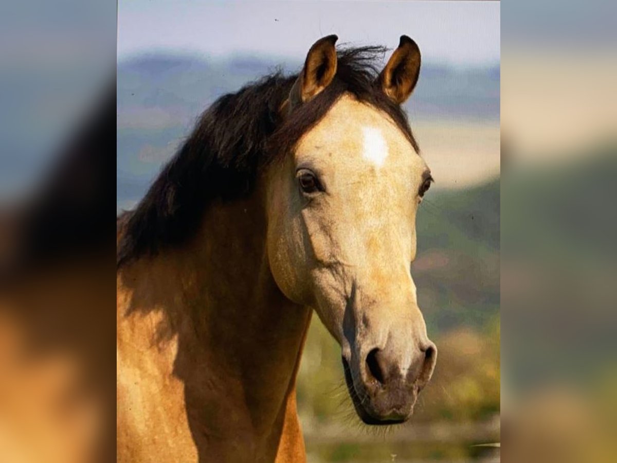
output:
[[[116,87],[110,79],[81,127],[57,151],[42,185],[13,206],[5,278],[102,254],[115,262]]]

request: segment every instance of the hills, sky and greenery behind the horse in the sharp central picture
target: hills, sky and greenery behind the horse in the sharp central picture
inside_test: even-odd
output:
[[[407,425],[365,427],[344,386],[341,349],[313,317],[298,378],[311,462],[495,461],[500,441],[500,5],[497,2],[120,2],[117,208],[131,209],[224,93],[310,46],[391,49],[407,34],[422,69],[405,105],[435,185],[418,215],[412,273],[434,378]]]

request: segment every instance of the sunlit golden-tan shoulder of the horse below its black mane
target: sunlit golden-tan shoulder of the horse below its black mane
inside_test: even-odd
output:
[[[117,285],[117,461],[197,461],[184,385],[173,374],[177,336],[163,311],[144,307],[139,288]]]

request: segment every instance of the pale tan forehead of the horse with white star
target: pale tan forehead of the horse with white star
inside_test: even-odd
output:
[[[299,152],[344,154],[372,167],[415,155],[399,127],[378,109],[344,95],[299,143]],[[411,159],[408,159],[411,161]]]

